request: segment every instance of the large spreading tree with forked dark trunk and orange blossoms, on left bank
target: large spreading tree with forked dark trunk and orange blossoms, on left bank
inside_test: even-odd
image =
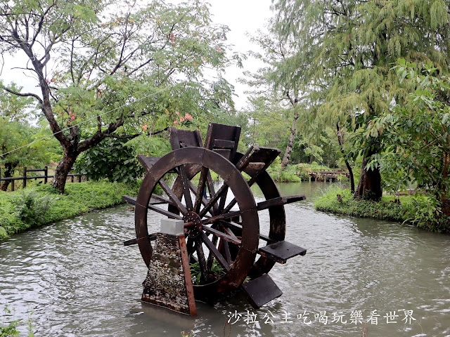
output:
[[[1,52],[25,53],[19,69],[40,92],[3,88],[34,98],[63,147],[61,192],[78,155],[117,131],[136,136],[161,116],[172,123],[184,109],[195,117],[230,104],[220,76],[227,28],[211,24],[202,1],[3,1],[0,13]],[[205,79],[205,67],[219,79]]]

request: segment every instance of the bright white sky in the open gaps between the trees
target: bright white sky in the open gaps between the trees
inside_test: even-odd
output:
[[[180,0],[167,0],[169,3],[178,3]],[[270,11],[271,0],[211,0],[212,20],[216,24],[227,25],[231,30],[227,36],[232,51],[245,53],[257,46],[250,44],[246,32],[255,34],[257,29],[264,29],[264,23],[272,15]],[[23,92],[39,93],[36,87],[36,81],[25,77],[22,71],[12,70],[11,67],[23,67],[26,58],[18,53],[14,58],[5,55],[5,65],[1,72],[0,79],[4,84],[11,81],[23,86]],[[243,61],[243,69],[238,67],[229,67],[226,70],[225,78],[235,86],[236,94],[234,97],[236,110],[241,110],[246,105],[247,96],[244,91],[247,87],[238,83],[237,79],[243,77],[244,70],[256,71],[262,64],[254,59]]]

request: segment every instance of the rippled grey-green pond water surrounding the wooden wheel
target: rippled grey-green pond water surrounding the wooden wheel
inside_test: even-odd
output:
[[[274,267],[283,296],[260,310],[243,296],[198,303],[196,318],[142,304],[146,267],[136,246],[122,245],[134,237],[126,205],[1,242],[0,308],[10,303],[24,319],[34,312],[36,336],[228,336],[229,316],[230,336],[450,336],[450,237],[315,211],[327,186],[280,185],[284,195],[307,194],[285,209],[288,241],[308,252]],[[267,221],[261,212],[262,231]],[[158,216],[152,224],[156,231]]]

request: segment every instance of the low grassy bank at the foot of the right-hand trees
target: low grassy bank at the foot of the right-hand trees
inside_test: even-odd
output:
[[[331,185],[314,206],[318,211],[407,222],[432,232],[450,232],[450,216],[436,216],[432,199],[423,194],[401,196],[397,200],[393,195],[383,195],[380,201],[355,200],[348,189]]]

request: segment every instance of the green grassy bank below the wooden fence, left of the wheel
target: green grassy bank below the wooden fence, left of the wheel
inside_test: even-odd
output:
[[[94,209],[122,203],[122,195],[135,196],[139,184],[89,181],[67,183],[59,194],[51,185],[15,192],[0,192],[0,239]]]

